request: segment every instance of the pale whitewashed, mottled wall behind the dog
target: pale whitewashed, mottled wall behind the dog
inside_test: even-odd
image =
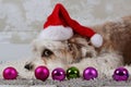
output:
[[[131,14],[131,0],[0,0],[0,61],[31,55],[29,44],[58,2],[87,26]]]

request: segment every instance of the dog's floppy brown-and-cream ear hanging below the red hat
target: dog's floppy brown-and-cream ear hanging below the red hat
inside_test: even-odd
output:
[[[92,46],[91,41],[86,37],[80,35],[74,35],[71,39],[68,40],[69,44],[76,45],[79,51],[82,53],[82,58],[93,58],[96,57],[95,47]]]

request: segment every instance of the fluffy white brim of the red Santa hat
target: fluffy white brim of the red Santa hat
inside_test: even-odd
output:
[[[49,40],[67,40],[73,36],[73,30],[71,27],[60,26],[48,26],[43,29],[38,36],[38,39],[49,39]]]

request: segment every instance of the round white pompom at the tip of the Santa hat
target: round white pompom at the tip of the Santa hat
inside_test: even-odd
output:
[[[91,42],[96,48],[99,48],[103,45],[103,37],[99,34],[95,34],[95,35],[92,36]]]

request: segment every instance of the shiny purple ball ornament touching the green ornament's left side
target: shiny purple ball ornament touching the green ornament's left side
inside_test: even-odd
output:
[[[66,78],[66,72],[61,67],[57,67],[51,73],[52,79],[55,80],[64,80]]]

